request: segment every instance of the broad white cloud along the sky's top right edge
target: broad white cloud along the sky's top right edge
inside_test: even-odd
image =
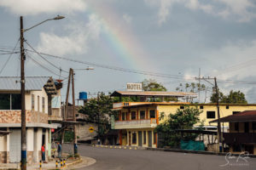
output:
[[[174,4],[181,4],[191,10],[201,10],[206,14],[220,16],[223,19],[230,17],[239,22],[247,22],[256,18],[256,6],[249,0],[144,0],[144,2],[151,7],[158,8],[158,23],[160,25],[166,22]]]

